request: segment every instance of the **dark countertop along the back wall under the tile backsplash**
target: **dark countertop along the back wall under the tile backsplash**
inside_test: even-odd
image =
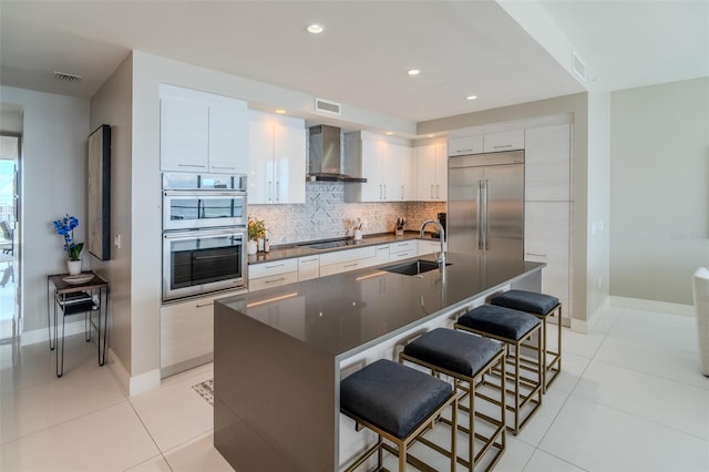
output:
[[[280,260],[280,259],[290,259],[294,257],[312,256],[317,254],[333,253],[336,250],[354,249],[357,247],[377,246],[380,244],[389,244],[389,243],[395,243],[398,240],[410,240],[410,239],[420,239],[419,232],[407,230],[403,233],[403,236],[395,236],[393,233],[366,235],[361,242],[354,242],[350,239],[351,240],[350,245],[330,248],[330,249],[314,249],[310,247],[306,247],[305,245],[330,242],[330,240],[339,240],[339,239],[323,239],[323,240],[317,240],[317,242],[310,240],[310,242],[302,242],[297,244],[273,246],[269,253],[258,253],[253,256],[248,256],[248,264],[249,265],[263,264],[263,263],[269,263],[269,261]],[[424,233],[423,239],[434,240],[436,243],[440,240],[438,238],[431,237],[431,233]]]

